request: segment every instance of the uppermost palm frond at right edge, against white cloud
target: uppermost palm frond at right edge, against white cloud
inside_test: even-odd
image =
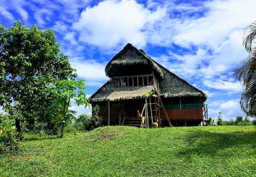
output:
[[[256,22],[252,23],[247,28],[247,33],[244,36],[243,45],[245,46],[245,49],[247,52],[252,51],[252,44],[255,40],[255,37],[256,37]]]

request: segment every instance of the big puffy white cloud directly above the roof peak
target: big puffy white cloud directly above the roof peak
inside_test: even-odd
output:
[[[134,0],[103,1],[86,7],[73,28],[80,32],[79,40],[89,44],[108,48],[130,42],[144,46],[147,36],[143,27],[164,15],[165,9],[151,12]]]

